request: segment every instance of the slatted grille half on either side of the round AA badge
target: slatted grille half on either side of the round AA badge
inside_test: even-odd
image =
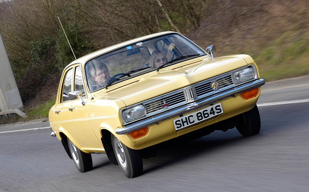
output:
[[[222,78],[217,79],[216,81],[219,83],[218,90],[222,90],[222,88],[226,88],[227,86],[234,85],[231,75],[224,76]],[[205,95],[205,94],[214,93],[214,89],[211,88],[211,83],[212,83],[211,81],[208,81],[208,82],[195,86],[195,92],[196,92],[197,97]]]

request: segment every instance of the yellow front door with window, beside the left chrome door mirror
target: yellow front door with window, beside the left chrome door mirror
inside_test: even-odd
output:
[[[85,105],[82,101],[77,98],[72,100],[70,106],[71,122],[70,134],[75,139],[75,141],[81,146],[81,149],[90,150],[91,148],[99,149],[103,148],[102,141],[100,141],[96,136],[88,121],[87,115],[87,97],[83,87],[83,77],[81,68],[78,65],[74,66],[74,91],[82,91],[82,99],[86,102]]]

